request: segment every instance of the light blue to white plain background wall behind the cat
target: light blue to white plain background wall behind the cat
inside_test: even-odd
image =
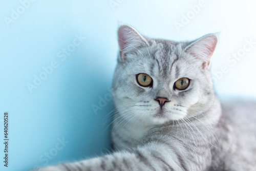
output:
[[[175,23],[181,23],[199,1],[31,0],[8,24],[6,17],[11,18],[12,9],[22,10],[21,2],[30,1],[0,3],[0,170],[30,170],[110,150],[108,114],[114,105],[109,89],[118,52],[118,22],[131,24],[150,37],[173,40],[221,31],[212,71],[227,66],[229,72],[216,84],[217,93],[222,98],[256,97],[255,88],[243,87],[243,82],[256,84],[256,45],[235,66],[227,62],[243,48],[245,39],[256,40],[251,1],[204,1],[204,7],[180,29]],[[72,46],[75,35],[86,39],[62,61],[63,53],[58,53]],[[58,67],[30,92],[27,83],[33,83],[34,75],[39,76],[52,61]],[[100,109],[95,112],[92,106]],[[10,116],[8,168],[2,161],[5,111]],[[68,142],[63,146],[59,139]],[[47,153],[53,155],[49,161]]]

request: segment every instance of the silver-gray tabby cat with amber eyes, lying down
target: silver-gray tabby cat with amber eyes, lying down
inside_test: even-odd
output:
[[[118,41],[115,152],[40,170],[256,170],[256,103],[221,107],[210,75],[216,34],[175,42],[121,25]]]

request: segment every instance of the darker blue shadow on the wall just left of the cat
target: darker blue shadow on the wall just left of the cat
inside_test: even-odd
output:
[[[58,135],[51,135],[55,141],[49,150],[38,154],[39,160],[33,163],[36,166],[101,156],[111,150],[112,80],[104,69],[89,69],[86,55],[79,50],[74,52],[54,75],[57,81],[54,96],[57,97],[51,98],[60,100],[56,114],[60,118],[55,118],[55,122],[62,123],[55,125]],[[54,133],[48,131],[48,134]]]

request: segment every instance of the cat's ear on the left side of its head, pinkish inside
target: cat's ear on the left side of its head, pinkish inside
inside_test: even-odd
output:
[[[118,44],[120,57],[118,60],[126,60],[126,55],[134,53],[141,46],[148,45],[148,41],[133,27],[122,24],[118,28]]]

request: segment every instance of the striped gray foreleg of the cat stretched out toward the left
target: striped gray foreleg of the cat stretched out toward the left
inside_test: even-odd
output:
[[[99,170],[204,170],[206,157],[198,153],[191,157],[191,149],[172,147],[166,142],[151,142],[132,151],[48,166],[39,171],[99,171]],[[198,160],[199,159],[199,160]]]

